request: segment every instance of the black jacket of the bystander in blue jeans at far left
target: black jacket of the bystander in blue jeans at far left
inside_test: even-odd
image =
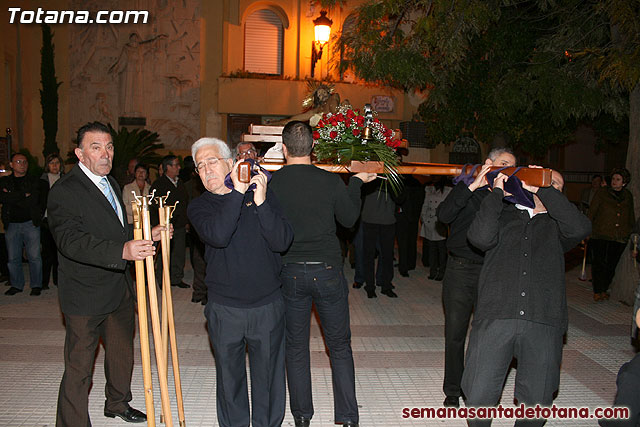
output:
[[[16,215],[23,216],[25,221],[33,221],[36,227],[40,226],[46,208],[47,191],[48,185],[28,174],[23,179],[13,175],[0,178],[0,203],[5,228]]]

